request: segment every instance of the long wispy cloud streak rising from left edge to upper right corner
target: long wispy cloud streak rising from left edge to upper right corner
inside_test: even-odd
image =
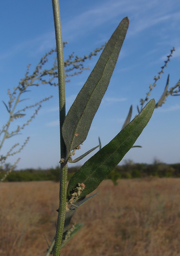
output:
[[[68,21],[64,22],[62,27],[63,37],[70,40],[80,35],[85,36],[90,30],[94,30],[108,22],[115,23],[117,25],[116,19],[119,20],[120,17],[122,18],[126,15],[130,18],[130,27],[127,36],[137,34],[144,29],[150,28],[159,23],[169,22],[170,20],[173,22],[173,26],[176,26],[180,20],[180,12],[169,14],[167,8],[165,8],[167,2],[168,1],[166,0],[161,8],[159,8],[158,0],[150,1],[149,3],[144,0],[137,0],[134,2],[131,0],[111,0],[111,4],[109,4],[109,1],[103,1],[101,5],[97,3],[97,5],[94,5],[94,8],[91,7],[91,9],[81,14],[68,18]],[[153,12],[151,13],[152,9]],[[149,13],[151,13],[151,15]],[[12,57],[12,55],[23,51],[25,48],[28,49],[28,54],[34,57],[38,53],[54,48],[54,37],[54,31],[51,31],[42,34],[37,38],[24,41],[13,46],[11,49],[8,49],[7,52],[1,53],[0,60]],[[106,35],[105,33],[102,34],[102,37],[102,43],[109,39],[109,35]],[[99,42],[100,38],[97,40]],[[179,56],[179,54],[180,53],[176,52],[176,56]]]

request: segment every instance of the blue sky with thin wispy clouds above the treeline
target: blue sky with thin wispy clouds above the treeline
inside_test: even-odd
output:
[[[176,51],[164,69],[150,99],[159,100],[170,74],[170,87],[180,78],[180,2],[177,0],[111,0],[111,1],[60,1],[63,40],[68,41],[64,48],[64,58],[75,55],[88,55],[95,48],[108,41],[119,22],[126,16],[130,20],[127,36],[111,78],[109,87],[95,115],[88,137],[76,156],[98,145],[106,145],[121,130],[130,105],[134,117],[140,98],[145,98],[149,84],[164,65],[166,55],[175,47]],[[7,89],[13,90],[24,77],[26,66],[30,71],[40,58],[51,48],[55,48],[52,4],[44,1],[2,1],[0,4],[0,120],[6,123],[7,113],[2,100],[8,101]],[[84,65],[93,69],[98,56]],[[52,58],[48,65],[51,65]],[[66,84],[66,110],[88,78],[90,71],[73,77]],[[18,155],[9,158],[11,164],[21,158],[17,168],[48,168],[57,166],[60,160],[58,88],[49,85],[32,87],[25,95],[30,98],[25,105],[33,104],[53,95],[42,104],[36,118],[23,130],[21,135],[9,138],[0,154],[15,143],[23,144],[27,136],[30,141]],[[28,112],[30,115],[32,112]],[[28,118],[27,115],[27,118]],[[137,163],[152,163],[154,158],[165,163],[180,162],[179,127],[180,97],[169,96],[161,108],[155,109],[147,127],[135,145],[123,159]],[[23,124],[26,119],[18,119],[14,125]],[[13,126],[12,126],[13,129]],[[93,153],[94,154],[94,153]],[[92,156],[89,155],[89,156]],[[82,165],[88,157],[84,158]],[[123,160],[121,164],[123,164]],[[73,164],[70,164],[73,166]]]

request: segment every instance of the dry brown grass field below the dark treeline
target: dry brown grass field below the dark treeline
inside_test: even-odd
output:
[[[103,181],[73,216],[84,227],[62,256],[180,255],[180,179]],[[0,184],[0,255],[42,256],[55,233],[59,183]]]

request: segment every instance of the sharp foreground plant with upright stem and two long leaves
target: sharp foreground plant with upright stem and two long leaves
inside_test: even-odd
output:
[[[84,198],[93,192],[100,182],[115,168],[123,156],[130,150],[134,142],[149,122],[155,108],[154,99],[151,100],[116,137],[105,147],[101,148],[91,157],[70,179],[68,188],[67,171],[68,162],[74,162],[72,156],[76,149],[85,141],[90,129],[94,115],[107,90],[110,78],[114,71],[120,49],[125,39],[129,26],[128,18],[124,18],[106,44],[96,66],[88,77],[81,91],[78,93],[69,112],[65,115],[65,78],[63,43],[61,35],[59,1],[52,0],[55,37],[57,45],[58,61],[58,83],[59,83],[59,107],[60,107],[60,148],[61,148],[61,171],[60,171],[60,193],[57,231],[55,244],[52,242],[46,255],[49,255],[54,246],[54,256],[60,255],[62,238],[66,243],[81,227],[73,228],[63,232],[65,214],[74,211],[86,200]],[[92,149],[93,150],[93,149]],[[82,159],[92,150],[79,157]],[[76,204],[78,198],[82,200]]]

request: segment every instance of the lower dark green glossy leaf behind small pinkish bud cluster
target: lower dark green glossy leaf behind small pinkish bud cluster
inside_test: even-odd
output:
[[[134,145],[135,141],[149,122],[155,108],[154,99],[150,100],[141,113],[136,116],[116,137],[92,156],[70,179],[67,197],[77,183],[84,183],[81,196],[88,195],[119,164],[121,159]]]

